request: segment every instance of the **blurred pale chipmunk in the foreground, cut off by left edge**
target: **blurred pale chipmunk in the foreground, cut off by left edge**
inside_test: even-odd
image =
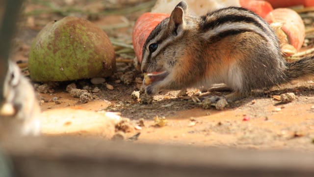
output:
[[[38,135],[40,108],[35,92],[21,74],[18,66],[9,61],[0,108],[0,130],[10,134]]]

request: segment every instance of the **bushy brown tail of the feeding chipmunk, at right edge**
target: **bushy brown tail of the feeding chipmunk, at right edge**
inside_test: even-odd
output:
[[[286,81],[298,78],[314,77],[314,56],[305,57],[295,62],[287,63]]]

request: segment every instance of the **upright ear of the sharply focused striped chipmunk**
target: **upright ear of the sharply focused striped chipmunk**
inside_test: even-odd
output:
[[[178,35],[184,28],[185,22],[183,15],[187,9],[187,4],[181,1],[175,9],[171,12],[168,28],[173,31],[175,35]]]

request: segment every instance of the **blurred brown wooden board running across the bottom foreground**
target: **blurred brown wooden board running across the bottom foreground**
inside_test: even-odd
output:
[[[108,142],[78,137],[6,140],[18,177],[314,177],[314,154]]]

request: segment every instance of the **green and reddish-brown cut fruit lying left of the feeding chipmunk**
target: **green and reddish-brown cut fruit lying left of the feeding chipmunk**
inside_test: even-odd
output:
[[[108,77],[115,70],[114,49],[102,29],[69,16],[38,33],[28,69],[31,79],[39,82]]]

